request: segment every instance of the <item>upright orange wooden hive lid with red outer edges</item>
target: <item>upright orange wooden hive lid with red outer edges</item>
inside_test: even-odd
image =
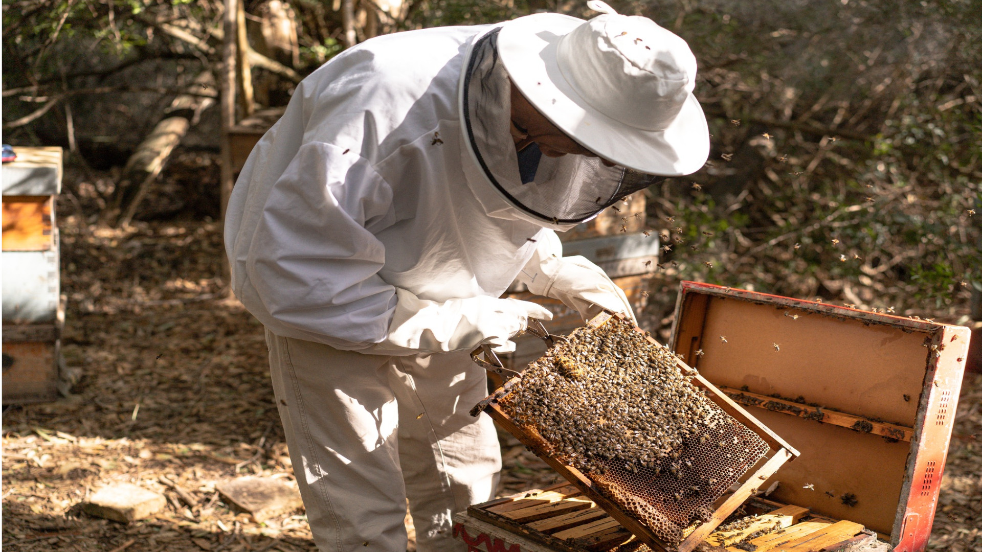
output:
[[[799,449],[771,498],[915,550],[930,533],[968,339],[964,327],[683,282],[671,344]]]

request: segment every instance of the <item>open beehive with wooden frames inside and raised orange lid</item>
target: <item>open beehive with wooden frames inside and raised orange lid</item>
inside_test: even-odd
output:
[[[800,449],[774,475],[777,486],[766,483],[768,498],[742,508],[807,512],[766,534],[718,530],[708,542],[732,551],[924,550],[968,339],[967,328],[931,320],[683,283],[673,350]],[[455,533],[471,551],[636,546],[597,503],[584,506],[578,489],[546,494],[557,490],[474,505],[455,515]]]

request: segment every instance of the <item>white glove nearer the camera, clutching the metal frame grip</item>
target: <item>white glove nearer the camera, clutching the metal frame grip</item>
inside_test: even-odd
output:
[[[389,335],[370,353],[447,353],[470,351],[478,345],[511,353],[515,343],[509,338],[525,329],[529,317],[552,320],[546,307],[517,299],[472,297],[437,303],[400,288],[396,288],[396,299]]]

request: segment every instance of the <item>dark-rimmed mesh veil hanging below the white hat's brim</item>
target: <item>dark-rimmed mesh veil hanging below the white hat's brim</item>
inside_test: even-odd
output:
[[[534,180],[522,184],[509,132],[511,87],[498,56],[498,30],[477,40],[464,68],[464,124],[478,164],[510,203],[544,222],[575,224],[664,180],[625,167],[608,167],[596,157],[543,155]]]

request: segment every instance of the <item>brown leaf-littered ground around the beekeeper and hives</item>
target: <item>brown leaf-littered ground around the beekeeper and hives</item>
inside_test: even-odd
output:
[[[3,547],[14,551],[313,550],[303,513],[263,524],[225,505],[216,482],[294,479],[274,408],[262,327],[224,299],[214,222],[127,230],[62,221],[67,364],[82,378],[55,403],[3,414]],[[654,316],[658,320],[659,316]],[[671,320],[661,327],[664,332]],[[982,552],[982,376],[967,376],[942,481],[933,550]],[[499,494],[556,474],[508,435]],[[128,481],[198,501],[117,524],[82,513],[93,489]],[[410,543],[410,548],[414,545]]]

